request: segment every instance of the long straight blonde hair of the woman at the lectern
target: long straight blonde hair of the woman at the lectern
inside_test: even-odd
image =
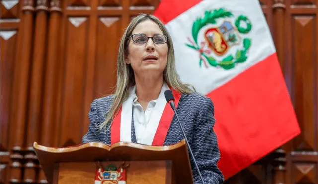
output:
[[[105,121],[99,126],[99,129],[103,129],[107,126],[107,123],[112,121],[112,119],[117,116],[118,111],[120,110],[123,102],[127,100],[129,96],[129,88],[135,85],[135,77],[134,72],[131,67],[131,65],[125,63],[125,56],[128,54],[128,43],[129,38],[140,22],[146,21],[146,20],[152,20],[158,26],[160,27],[161,31],[163,32],[163,35],[168,37],[168,57],[167,57],[167,66],[163,72],[163,80],[167,83],[167,85],[172,88],[173,90],[181,93],[181,94],[190,94],[194,90],[191,85],[189,84],[183,84],[179,78],[179,75],[177,74],[176,68],[175,68],[175,58],[174,58],[174,50],[173,50],[173,44],[170,37],[170,34],[168,33],[167,29],[165,28],[164,24],[155,16],[148,15],[148,14],[140,14],[136,16],[128,25],[127,29],[124,32],[124,35],[122,36],[120,40],[119,45],[119,52],[118,52],[118,58],[117,58],[117,85],[116,85],[116,91],[113,95],[114,99],[112,102],[111,108],[105,113],[106,119]],[[193,88],[194,89],[194,88]],[[111,124],[109,125],[111,127]]]

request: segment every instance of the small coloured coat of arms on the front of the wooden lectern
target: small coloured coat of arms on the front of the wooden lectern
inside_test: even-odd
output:
[[[124,164],[116,168],[114,164],[109,164],[106,169],[98,164],[94,184],[126,184],[126,168]]]

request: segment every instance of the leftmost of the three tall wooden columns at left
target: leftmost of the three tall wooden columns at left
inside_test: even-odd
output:
[[[10,164],[10,183],[20,183],[22,173],[22,159],[24,154],[25,146],[25,123],[26,123],[26,112],[28,103],[28,89],[29,89],[29,75],[30,75],[30,59],[32,51],[32,32],[33,32],[33,11],[34,1],[24,0],[23,1],[19,46],[17,53],[17,62],[15,66],[14,76],[14,102],[12,111],[12,126],[10,128],[10,134],[14,136],[10,139],[11,147],[11,164]]]

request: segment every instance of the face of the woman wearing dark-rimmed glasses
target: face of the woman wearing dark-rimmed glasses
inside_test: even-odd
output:
[[[138,34],[138,35],[135,35]],[[164,36],[159,26],[151,21],[143,21],[135,27],[132,32],[134,40],[137,42],[145,42],[147,37],[156,35],[154,43],[153,39],[149,38],[146,43],[136,43],[131,37],[128,44],[128,55],[125,59],[126,64],[131,64],[134,73],[138,75],[163,73],[167,65],[168,45],[164,42]]]

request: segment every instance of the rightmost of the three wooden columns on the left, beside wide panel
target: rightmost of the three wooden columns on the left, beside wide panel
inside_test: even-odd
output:
[[[46,67],[43,98],[43,117],[41,130],[41,144],[45,146],[58,146],[55,140],[58,133],[55,131],[58,123],[57,109],[59,89],[59,69],[62,66],[60,60],[61,40],[61,1],[50,1],[50,19],[48,30],[48,44],[46,49]],[[47,183],[43,170],[39,169],[39,183]]]

